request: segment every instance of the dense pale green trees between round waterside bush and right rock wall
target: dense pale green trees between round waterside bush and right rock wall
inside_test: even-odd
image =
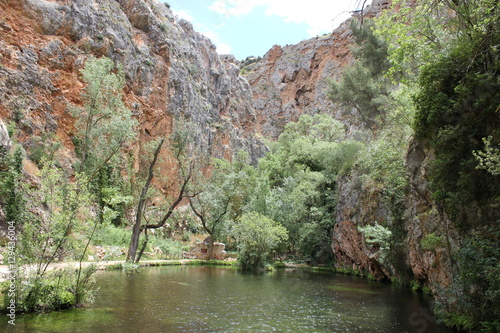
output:
[[[263,199],[253,210],[287,229],[288,251],[322,263],[332,260],[336,179],[350,172],[362,147],[346,140],[344,125],[330,116],[302,115],[259,161]]]

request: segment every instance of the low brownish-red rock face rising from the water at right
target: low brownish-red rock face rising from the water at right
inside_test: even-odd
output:
[[[431,197],[427,177],[434,158],[422,142],[410,143],[406,156],[410,188],[401,216],[395,216],[383,188],[364,186],[356,171],[339,180],[332,236],[337,267],[367,272],[379,280],[414,279],[433,292],[451,284],[458,269],[451,254],[460,247],[461,237]],[[391,260],[384,260],[380,249],[367,244],[358,229],[374,222],[388,225],[393,237],[400,238],[393,243]]]

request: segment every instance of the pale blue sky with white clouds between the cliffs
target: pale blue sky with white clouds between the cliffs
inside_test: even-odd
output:
[[[351,12],[371,0],[161,0],[179,18],[212,40],[219,54],[236,59],[263,56],[331,33]]]

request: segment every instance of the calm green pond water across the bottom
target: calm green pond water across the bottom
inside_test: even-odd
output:
[[[36,333],[451,332],[435,323],[421,295],[342,275],[156,267],[100,272],[97,281],[88,308],[18,316],[15,329],[7,318],[0,325]]]

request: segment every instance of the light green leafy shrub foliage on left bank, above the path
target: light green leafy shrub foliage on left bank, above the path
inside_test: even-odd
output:
[[[25,186],[27,212],[30,223],[25,223],[19,235],[19,251],[27,263],[36,263],[40,272],[55,258],[75,256],[83,247],[83,240],[73,232],[84,232],[92,221],[92,198],[85,177],[76,175],[75,181],[46,162],[40,171],[37,188]],[[40,212],[44,207],[45,212]]]

